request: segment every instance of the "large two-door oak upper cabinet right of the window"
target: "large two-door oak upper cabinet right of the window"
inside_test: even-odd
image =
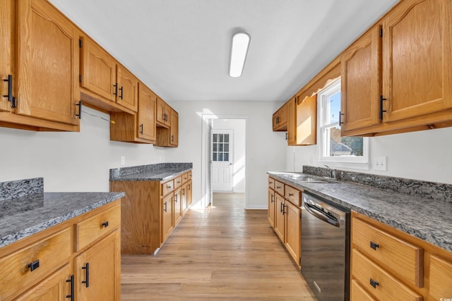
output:
[[[451,1],[403,0],[352,44],[342,55],[342,135],[451,126],[451,31]]]

